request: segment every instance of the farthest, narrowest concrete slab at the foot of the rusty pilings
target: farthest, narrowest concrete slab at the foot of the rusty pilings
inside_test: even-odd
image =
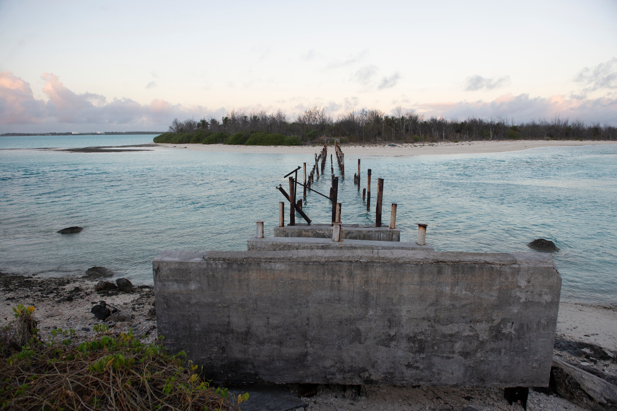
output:
[[[329,224],[296,224],[274,228],[275,237],[332,238]],[[343,224],[342,238],[348,240],[400,241],[400,229],[388,226]]]

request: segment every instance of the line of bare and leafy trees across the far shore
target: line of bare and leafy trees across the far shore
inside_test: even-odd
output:
[[[194,134],[204,130],[226,136],[241,133],[250,138],[253,133],[294,137],[299,142],[312,142],[318,137],[340,137],[342,142],[441,142],[460,140],[616,140],[617,127],[584,121],[569,121],[556,116],[516,123],[506,118],[468,118],[463,121],[431,116],[426,118],[413,110],[395,108],[394,115],[380,110],[350,111],[334,119],[323,108],[315,106],[288,119],[283,111],[267,113],[231,110],[222,119],[209,116],[199,121],[174,119],[172,134]],[[221,141],[223,142],[223,141]]]

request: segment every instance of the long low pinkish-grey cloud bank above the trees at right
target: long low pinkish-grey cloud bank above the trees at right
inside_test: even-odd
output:
[[[563,95],[529,97],[529,94],[501,95],[491,102],[428,103],[414,107],[425,116],[445,118],[513,118],[515,121],[561,118],[617,124],[617,98],[574,99]]]

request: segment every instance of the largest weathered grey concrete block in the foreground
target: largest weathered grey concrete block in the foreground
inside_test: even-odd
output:
[[[157,328],[215,381],[547,386],[548,253],[167,251]]]

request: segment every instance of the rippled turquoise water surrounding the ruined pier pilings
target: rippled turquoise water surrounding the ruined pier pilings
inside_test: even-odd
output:
[[[13,149],[0,150],[0,271],[78,275],[102,265],[136,284],[151,283],[151,261],[162,250],[244,250],[255,220],[265,220],[272,235],[283,200],[275,186],[287,188],[283,176],[313,161],[183,148],[37,149],[152,137],[0,137],[0,149]],[[415,241],[418,222],[428,223],[427,241],[436,250],[526,251],[544,237],[560,248],[553,257],[563,300],[617,302],[617,145],[361,160],[362,186],[366,169],[373,171],[373,204],[377,178],[384,178],[384,223],[390,204],[398,204],[403,241]],[[348,155],[348,176],[339,180],[342,221],[374,223],[375,207],[366,212],[354,185],[355,167],[357,157]],[[327,194],[329,185],[322,178],[313,188]],[[307,197],[304,211],[316,223],[328,222],[330,210],[328,199]],[[56,233],[73,225],[85,229]]]

